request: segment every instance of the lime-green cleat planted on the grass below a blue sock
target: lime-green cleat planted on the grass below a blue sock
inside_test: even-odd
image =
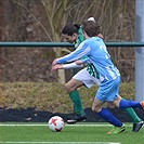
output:
[[[113,127],[110,131],[108,131],[106,134],[118,134],[121,133],[126,130],[125,125],[122,125],[120,128],[119,127]]]

